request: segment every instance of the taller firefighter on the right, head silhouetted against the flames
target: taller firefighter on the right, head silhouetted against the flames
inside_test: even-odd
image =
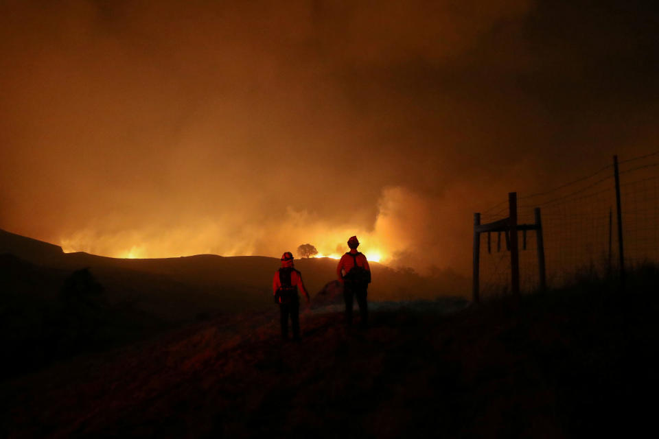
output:
[[[352,299],[354,296],[359,304],[360,323],[362,327],[367,327],[369,308],[366,296],[369,283],[371,283],[371,268],[369,268],[369,261],[366,260],[366,257],[357,251],[358,246],[359,241],[356,236],[348,239],[350,251],[338,261],[336,275],[338,280],[343,283],[346,323],[352,324]]]

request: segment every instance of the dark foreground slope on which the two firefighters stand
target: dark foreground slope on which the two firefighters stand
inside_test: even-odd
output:
[[[649,279],[457,311],[385,303],[367,331],[321,307],[299,344],[273,312],[209,320],[5,381],[0,436],[632,436],[656,407]]]

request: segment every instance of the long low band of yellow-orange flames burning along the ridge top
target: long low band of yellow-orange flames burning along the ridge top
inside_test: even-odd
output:
[[[316,258],[340,259],[347,252],[347,237],[357,235],[360,252],[369,261],[386,263],[391,258],[389,230],[360,230],[353,226],[332,227],[314,222],[307,216],[290,213],[290,221],[276,228],[243,228],[227,231],[220,222],[208,220],[171,228],[131,228],[106,233],[84,228],[60,237],[65,252],[87,252],[122,259],[148,259],[218,254],[230,256],[268,256],[279,258],[282,252],[297,254],[297,246],[308,242],[318,250]],[[311,224],[311,225],[309,225]],[[267,236],[268,239],[264,239]]]

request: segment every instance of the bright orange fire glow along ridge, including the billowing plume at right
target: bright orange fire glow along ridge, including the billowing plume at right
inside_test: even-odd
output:
[[[412,213],[415,221],[420,221],[429,218],[430,213],[424,208],[424,200],[400,187],[382,191],[378,206],[375,222],[369,229],[356,224],[333,224],[319,215],[289,208],[279,221],[268,224],[247,224],[238,216],[218,215],[189,218],[185,225],[170,227],[143,223],[115,231],[90,227],[60,237],[58,244],[65,252],[148,259],[194,254],[278,258],[285,251],[299,258],[297,247],[310,243],[318,250],[316,257],[340,259],[349,251],[347,239],[356,235],[360,240],[358,250],[369,261],[396,266],[400,261],[395,255],[410,254],[418,239],[410,233],[406,215]],[[402,263],[418,267],[407,256]]]

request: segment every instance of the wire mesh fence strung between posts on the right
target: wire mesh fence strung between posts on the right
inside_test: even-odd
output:
[[[659,262],[659,151],[618,162],[625,268]],[[533,224],[542,213],[548,287],[580,276],[616,273],[618,221],[614,165],[538,193],[518,193],[518,224]],[[481,213],[481,224],[509,216],[505,200]],[[518,232],[520,289],[539,285],[536,232]],[[481,297],[507,294],[510,252],[504,232],[481,233]],[[489,246],[488,246],[489,241]]]

